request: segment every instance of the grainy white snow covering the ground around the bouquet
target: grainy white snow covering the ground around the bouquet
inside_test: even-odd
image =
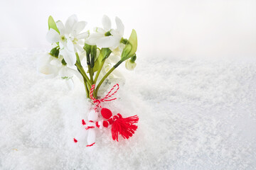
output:
[[[90,110],[80,81],[39,77],[38,50],[0,50],[0,169],[256,169],[255,60],[139,56],[104,103],[139,115],[137,132],[98,130],[88,148],[73,142]]]

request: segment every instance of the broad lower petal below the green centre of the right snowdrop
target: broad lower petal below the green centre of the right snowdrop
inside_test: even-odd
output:
[[[120,38],[113,37],[113,36],[107,36],[104,38],[100,38],[97,40],[96,45],[98,47],[111,47],[116,48],[120,43]]]

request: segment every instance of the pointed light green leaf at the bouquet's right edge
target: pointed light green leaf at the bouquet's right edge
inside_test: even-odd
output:
[[[132,30],[129,40],[122,51],[121,60],[124,61],[132,57],[137,52],[137,45],[137,33],[135,30]]]

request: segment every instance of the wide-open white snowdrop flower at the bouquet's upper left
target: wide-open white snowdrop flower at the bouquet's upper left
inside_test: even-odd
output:
[[[80,45],[84,44],[84,39],[89,36],[89,32],[80,33],[86,26],[85,21],[79,21],[77,16],[73,15],[68,18],[64,24],[61,21],[56,22],[60,33],[50,28],[46,35],[46,40],[50,43],[59,42],[60,55],[64,57],[68,66],[73,66],[76,62],[75,52],[82,51]]]

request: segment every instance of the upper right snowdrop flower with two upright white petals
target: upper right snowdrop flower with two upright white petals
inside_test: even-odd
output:
[[[98,47],[109,47],[112,50],[117,48],[124,35],[124,25],[118,17],[115,18],[115,22],[117,28],[112,29],[110,18],[103,16],[103,28],[95,28],[95,33],[92,33],[86,42],[90,45],[97,45]]]

